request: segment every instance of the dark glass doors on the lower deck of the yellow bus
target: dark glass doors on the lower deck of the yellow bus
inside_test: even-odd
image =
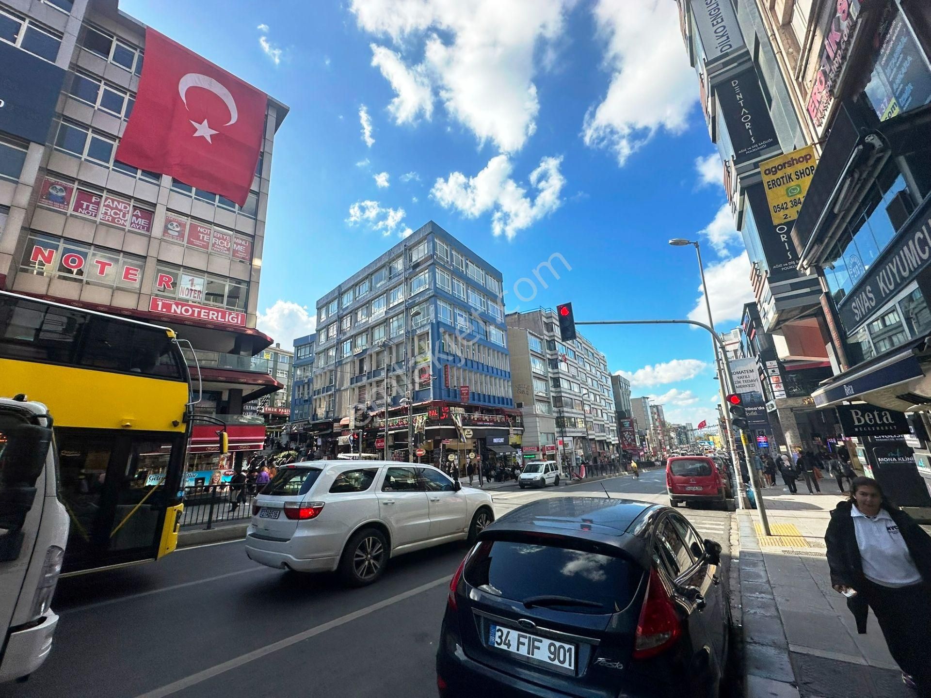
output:
[[[183,435],[57,429],[66,572],[155,559]]]

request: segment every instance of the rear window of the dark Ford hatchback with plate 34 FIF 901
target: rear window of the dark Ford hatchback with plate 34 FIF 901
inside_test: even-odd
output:
[[[571,597],[597,607],[551,604],[579,613],[614,613],[630,603],[640,568],[624,557],[536,541],[485,541],[469,558],[468,584],[495,596],[524,601],[531,597]]]

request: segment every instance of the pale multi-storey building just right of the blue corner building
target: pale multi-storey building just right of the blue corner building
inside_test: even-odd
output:
[[[562,342],[559,321],[552,310],[510,313],[506,322],[508,330],[527,330],[515,336],[525,336],[528,345],[533,339],[540,342],[542,353],[531,351],[528,355],[532,363],[533,359],[540,362],[536,363],[537,369],[546,368],[545,376],[539,370],[534,376],[531,367],[534,414],[542,409],[537,408],[537,403],[549,404],[550,414],[556,418],[557,443],[562,439],[563,449],[569,451],[567,459],[614,458],[618,452],[617,423],[605,356],[582,335],[572,342]],[[513,356],[515,348],[511,351]],[[541,382],[547,380],[544,392]],[[515,393],[515,400],[517,396]],[[548,417],[544,419],[548,425]]]

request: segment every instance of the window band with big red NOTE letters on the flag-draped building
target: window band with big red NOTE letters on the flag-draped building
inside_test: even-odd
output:
[[[145,258],[118,250],[32,233],[23,251],[20,271],[39,276],[77,279],[110,289],[138,291]]]

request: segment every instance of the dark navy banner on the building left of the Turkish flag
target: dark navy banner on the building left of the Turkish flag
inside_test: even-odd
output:
[[[26,141],[46,142],[64,71],[3,42],[0,66],[0,131]]]

